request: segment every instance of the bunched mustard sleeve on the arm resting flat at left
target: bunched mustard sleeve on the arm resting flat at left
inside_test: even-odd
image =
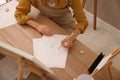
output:
[[[15,18],[19,24],[25,24],[27,20],[31,19],[27,14],[31,10],[30,0],[19,0],[19,4],[15,10]]]

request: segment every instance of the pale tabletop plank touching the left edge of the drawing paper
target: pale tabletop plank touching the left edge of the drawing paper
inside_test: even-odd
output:
[[[25,34],[14,25],[1,29],[0,34],[4,36],[11,46],[33,55],[32,40],[26,37]]]

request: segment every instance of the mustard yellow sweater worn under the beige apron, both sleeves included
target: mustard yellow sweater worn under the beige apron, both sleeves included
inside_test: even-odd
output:
[[[42,3],[47,6],[48,0],[41,0]],[[66,0],[56,0],[56,9],[63,9],[66,7]],[[82,32],[85,31],[88,21],[83,11],[80,0],[68,0],[69,6],[73,9],[75,19],[78,22],[75,28],[79,28]],[[16,7],[15,17],[19,24],[25,24],[27,20],[31,19],[27,14],[31,10],[31,5],[38,8],[38,0],[19,0],[19,4]]]

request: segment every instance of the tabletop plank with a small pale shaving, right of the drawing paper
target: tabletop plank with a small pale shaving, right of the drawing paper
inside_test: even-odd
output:
[[[80,53],[80,51],[83,50],[84,53]],[[76,57],[79,61],[82,62],[82,64],[86,66],[90,66],[91,63],[95,60],[97,57],[96,53],[87,48],[84,44],[82,44],[80,41],[76,40],[73,44],[73,46],[70,49],[70,53]]]

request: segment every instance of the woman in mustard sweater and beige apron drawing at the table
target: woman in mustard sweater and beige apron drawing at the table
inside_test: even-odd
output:
[[[73,32],[62,40],[63,47],[71,47],[76,37],[83,33],[88,25],[80,0],[19,0],[15,11],[18,23],[28,24],[45,35],[52,36],[54,32],[48,26],[40,25],[27,15],[31,10],[31,5],[38,8],[41,15],[47,16],[61,27],[74,28]],[[74,12],[77,24],[74,22],[69,7]]]

